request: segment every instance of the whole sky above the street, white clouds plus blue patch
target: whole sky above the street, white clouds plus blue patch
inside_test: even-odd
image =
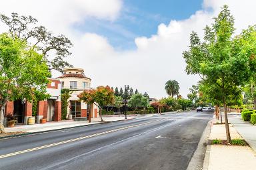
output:
[[[256,23],[254,0],[2,0],[0,13],[32,15],[71,39],[73,54],[67,61],[84,68],[92,86],[129,84],[161,98],[167,80],[177,80],[184,97],[197,83],[198,76],[184,71],[182,52],[191,31],[202,37],[225,4],[237,33]],[[0,32],[5,31],[0,24]]]

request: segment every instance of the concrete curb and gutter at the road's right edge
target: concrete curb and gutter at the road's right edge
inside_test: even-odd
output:
[[[208,168],[209,165],[209,149],[210,146],[209,135],[211,133],[211,126],[213,121],[210,120],[203,131],[201,139],[197,145],[197,149],[193,153],[193,157],[191,158],[189,165],[187,166],[187,170],[201,170],[204,167]]]

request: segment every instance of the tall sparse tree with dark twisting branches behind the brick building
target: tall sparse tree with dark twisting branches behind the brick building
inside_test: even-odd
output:
[[[37,26],[37,19],[29,16],[12,13],[11,17],[0,14],[1,21],[9,27],[9,34],[13,40],[31,42],[31,48],[43,55],[47,61],[49,70],[63,71],[65,67],[72,67],[68,62],[63,60],[71,52],[69,48],[73,46],[71,41],[64,35],[54,36],[43,26]],[[50,59],[49,53],[55,52],[55,57]]]

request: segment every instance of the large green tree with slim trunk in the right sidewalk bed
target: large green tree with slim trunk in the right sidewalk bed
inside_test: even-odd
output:
[[[247,31],[234,36],[234,19],[227,5],[214,18],[211,27],[205,27],[204,42],[197,33],[191,33],[189,50],[183,52],[187,63],[187,74],[199,74],[205,86],[213,86],[221,97],[225,112],[227,142],[230,143],[227,104],[231,98],[240,95],[243,86],[255,72],[255,48],[247,41]],[[253,31],[251,31],[253,33]],[[255,41],[253,41],[255,44]]]

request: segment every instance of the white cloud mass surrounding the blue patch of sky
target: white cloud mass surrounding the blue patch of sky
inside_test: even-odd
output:
[[[172,79],[180,83],[181,95],[187,96],[191,85],[199,80],[198,76],[185,73],[182,52],[189,45],[189,34],[197,31],[202,37],[203,28],[213,23],[212,18],[224,4],[229,5],[235,17],[237,33],[255,24],[255,1],[205,0],[203,9],[189,19],[172,20],[169,25],[162,23],[155,35],[137,37],[137,49],[128,51],[115,50],[102,35],[80,33],[72,28],[74,24],[83,24],[86,17],[115,20],[121,10],[121,0],[8,1],[1,4],[1,13],[30,14],[55,33],[65,33],[74,43],[69,62],[85,68],[85,74],[93,79],[93,86],[129,84],[141,92],[148,92],[151,97],[162,97],[166,95],[165,82]]]

